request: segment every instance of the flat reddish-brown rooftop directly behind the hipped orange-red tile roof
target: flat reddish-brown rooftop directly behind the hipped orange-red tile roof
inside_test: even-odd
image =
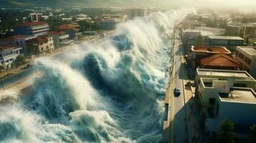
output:
[[[212,54],[231,54],[231,52],[224,46],[191,46],[191,51],[194,52],[207,52]]]

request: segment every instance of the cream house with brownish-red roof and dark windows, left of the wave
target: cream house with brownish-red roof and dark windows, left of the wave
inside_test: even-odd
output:
[[[49,53],[54,50],[54,41],[52,36],[37,36],[27,42],[27,51],[25,54],[31,56],[34,54]]]

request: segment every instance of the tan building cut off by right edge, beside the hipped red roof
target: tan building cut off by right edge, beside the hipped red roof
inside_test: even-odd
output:
[[[240,61],[241,69],[247,71],[256,78],[256,47],[237,46],[235,58]]]

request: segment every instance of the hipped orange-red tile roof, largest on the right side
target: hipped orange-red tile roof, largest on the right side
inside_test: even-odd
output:
[[[240,62],[227,54],[213,54],[201,59],[202,66],[226,66],[240,68]]]

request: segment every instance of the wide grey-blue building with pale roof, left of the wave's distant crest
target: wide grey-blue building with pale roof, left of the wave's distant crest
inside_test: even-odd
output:
[[[121,19],[102,19],[99,21],[99,26],[102,30],[114,30],[120,22],[122,22]]]

